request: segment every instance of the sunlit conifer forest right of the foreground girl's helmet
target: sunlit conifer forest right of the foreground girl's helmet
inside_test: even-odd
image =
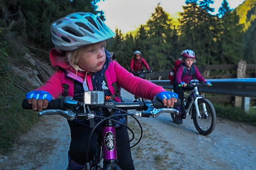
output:
[[[241,59],[255,64],[256,0],[246,0],[235,10],[223,0],[217,15],[208,13],[214,11],[209,7],[213,2],[187,0],[178,24],[158,5],[136,35],[124,36],[116,29],[109,50],[127,69],[134,50],[141,50],[154,71],[169,70],[184,49],[195,51],[197,65],[237,64]]]

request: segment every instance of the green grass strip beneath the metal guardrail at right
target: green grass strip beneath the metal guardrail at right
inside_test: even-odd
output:
[[[241,108],[234,108],[233,106],[223,106],[221,104],[214,104],[214,108],[216,114],[220,115],[221,117],[256,125],[255,108],[250,108],[249,113],[245,113]]]

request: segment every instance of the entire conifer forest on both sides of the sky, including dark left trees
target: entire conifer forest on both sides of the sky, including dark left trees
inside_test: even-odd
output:
[[[29,51],[48,60],[53,44],[50,25],[61,16],[86,11],[104,19],[97,11],[100,0],[11,0],[1,1],[1,46],[8,46],[13,56]],[[209,14],[214,0],[186,0],[178,22],[160,5],[136,34],[123,35],[116,29],[116,37],[108,40],[107,49],[115,52],[117,61],[129,69],[134,50],[154,67],[154,71],[169,70],[184,49],[196,53],[197,65],[236,64],[243,59],[256,63],[256,0],[245,0],[235,10],[223,0],[217,15]]]

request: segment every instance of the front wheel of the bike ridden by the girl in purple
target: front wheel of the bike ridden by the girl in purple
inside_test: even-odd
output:
[[[198,99],[198,109],[200,116],[196,113],[196,108],[193,106],[192,116],[196,130],[202,135],[208,135],[213,132],[216,125],[216,113],[213,104],[206,99]]]

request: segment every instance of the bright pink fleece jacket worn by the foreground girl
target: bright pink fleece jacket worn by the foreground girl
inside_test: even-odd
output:
[[[60,59],[60,54],[55,49],[50,51],[50,61],[54,67],[59,66],[63,69],[68,69],[76,73],[73,67],[69,66],[66,62],[63,62],[63,60]],[[157,86],[148,80],[140,79],[139,77],[134,76],[132,73],[129,73],[116,61],[112,61],[112,64],[116,74],[117,84],[124,90],[127,90],[129,93],[153,100],[156,94],[166,91],[161,86]],[[61,74],[64,71],[61,68],[57,69],[56,72],[46,81],[46,83],[36,90],[48,91],[54,98],[58,98],[63,93]],[[85,79],[86,72],[77,72],[77,75],[82,77],[82,79]],[[87,74],[87,80],[88,77],[89,76]]]

